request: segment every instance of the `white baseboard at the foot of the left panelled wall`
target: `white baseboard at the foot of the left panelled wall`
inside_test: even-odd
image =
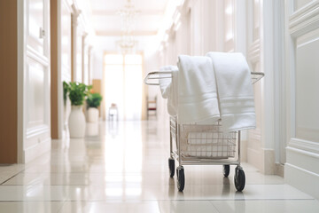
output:
[[[24,162],[31,162],[36,157],[41,156],[42,154],[49,152],[51,150],[51,138],[47,138],[41,143],[35,144],[34,146],[30,146],[24,150]]]

